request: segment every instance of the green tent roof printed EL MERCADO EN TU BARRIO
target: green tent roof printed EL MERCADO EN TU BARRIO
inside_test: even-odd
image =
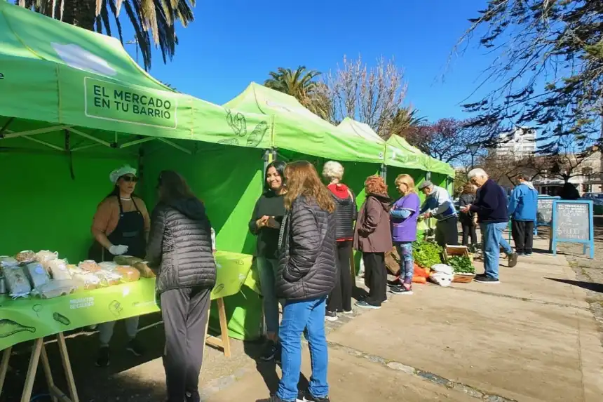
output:
[[[11,94],[0,96],[5,139],[35,126],[36,133],[27,135],[101,130],[270,145],[265,116],[229,112],[172,91],[144,72],[117,39],[5,1],[0,1],[0,74],[0,93]],[[250,140],[255,128],[262,135]]]

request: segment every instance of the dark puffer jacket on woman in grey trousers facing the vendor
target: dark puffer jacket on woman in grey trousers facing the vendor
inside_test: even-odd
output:
[[[215,286],[211,225],[201,201],[184,199],[156,206],[151,215],[147,261],[157,275],[159,293]]]

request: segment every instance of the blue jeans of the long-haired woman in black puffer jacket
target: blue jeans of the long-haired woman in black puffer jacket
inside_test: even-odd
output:
[[[297,383],[302,370],[302,333],[310,347],[312,376],[309,391],[316,398],[329,394],[327,383],[327,335],[325,335],[325,311],[327,297],[320,299],[287,301],[280,321],[278,338],[283,347],[281,355],[283,377],[278,384],[276,395],[283,401],[297,399]]]

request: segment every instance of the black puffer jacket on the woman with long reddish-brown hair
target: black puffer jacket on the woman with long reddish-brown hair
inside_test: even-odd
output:
[[[300,196],[283,219],[276,293],[286,300],[328,295],[335,287],[335,215]]]

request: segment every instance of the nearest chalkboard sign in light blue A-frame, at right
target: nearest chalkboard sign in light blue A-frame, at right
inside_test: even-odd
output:
[[[595,257],[595,235],[592,227],[592,201],[553,200],[553,227],[551,248],[557,253],[557,242],[583,243],[590,247],[590,257]]]

